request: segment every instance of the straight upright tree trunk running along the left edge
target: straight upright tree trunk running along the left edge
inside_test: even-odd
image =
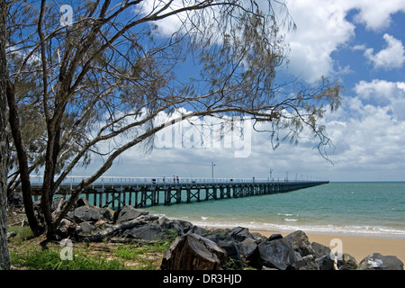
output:
[[[5,133],[5,19],[7,4],[0,0],[0,270],[10,269],[7,239],[7,136]]]

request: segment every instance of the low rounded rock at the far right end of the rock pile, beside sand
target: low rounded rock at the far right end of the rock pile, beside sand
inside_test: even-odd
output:
[[[395,256],[373,253],[359,263],[357,270],[403,270],[403,263]]]

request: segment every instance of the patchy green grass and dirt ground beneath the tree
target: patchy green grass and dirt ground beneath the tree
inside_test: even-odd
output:
[[[17,236],[9,241],[13,269],[29,270],[157,270],[170,241],[146,244],[73,243],[72,260],[62,260],[58,242],[40,246],[29,227],[9,227]]]

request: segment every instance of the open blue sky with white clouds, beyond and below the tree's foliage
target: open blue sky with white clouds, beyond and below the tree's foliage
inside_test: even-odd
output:
[[[156,148],[147,156],[133,148],[106,175],[211,177],[214,162],[216,177],[268,177],[271,168],[276,179],[288,172],[290,179],[405,181],[405,1],[286,4],[297,30],[286,32],[290,62],[281,76],[307,84],[328,76],[346,89],[338,112],[323,120],[336,147],[333,164],[308,139],[273,150],[268,134],[252,132],[249,157],[234,157],[230,148]]]

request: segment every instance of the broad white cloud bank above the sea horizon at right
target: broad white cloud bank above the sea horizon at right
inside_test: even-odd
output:
[[[327,115],[329,135],[337,147],[331,156],[336,175],[368,181],[402,179],[404,88],[405,83],[361,81],[356,97],[345,97],[338,112]]]

